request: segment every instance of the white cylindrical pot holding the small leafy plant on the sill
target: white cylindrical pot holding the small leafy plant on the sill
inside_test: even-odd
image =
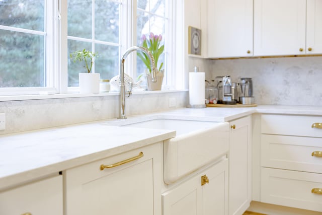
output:
[[[99,73],[79,73],[79,93],[99,93],[100,74]]]

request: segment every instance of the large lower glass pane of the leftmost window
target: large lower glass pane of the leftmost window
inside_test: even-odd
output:
[[[0,35],[0,87],[46,87],[44,36],[6,30]]]

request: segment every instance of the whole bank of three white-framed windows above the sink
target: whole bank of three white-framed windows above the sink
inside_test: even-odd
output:
[[[171,84],[173,2],[0,0],[0,96],[77,91],[83,68],[69,53],[84,48],[98,52],[94,73],[111,79],[119,73],[124,51],[140,45],[141,34],[149,32],[163,35],[164,84]],[[132,56],[126,72],[135,79],[143,70]]]

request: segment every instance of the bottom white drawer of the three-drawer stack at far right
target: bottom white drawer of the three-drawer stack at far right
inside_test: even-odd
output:
[[[322,174],[262,168],[261,201],[307,210],[322,211]]]

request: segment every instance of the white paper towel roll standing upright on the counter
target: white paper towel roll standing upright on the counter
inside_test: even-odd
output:
[[[189,73],[189,104],[205,104],[205,73]]]

